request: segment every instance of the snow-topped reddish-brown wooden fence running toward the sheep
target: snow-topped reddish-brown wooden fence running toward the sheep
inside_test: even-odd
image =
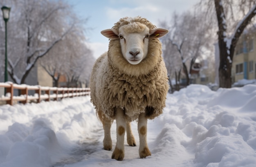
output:
[[[90,88],[57,88],[45,86],[29,86],[26,84],[18,85],[12,82],[0,82],[0,88],[6,88],[5,96],[0,97],[0,101],[6,101],[7,104],[13,105],[14,102],[29,103],[34,101],[50,101],[63,99],[65,97],[86,96],[90,94]],[[13,90],[20,90],[20,96],[14,96]],[[29,90],[34,90],[34,95],[29,95]]]

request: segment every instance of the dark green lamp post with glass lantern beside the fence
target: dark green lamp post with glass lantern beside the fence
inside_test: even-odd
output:
[[[4,82],[8,81],[8,74],[7,74],[7,21],[9,20],[9,13],[11,8],[3,6],[2,8],[3,18],[5,22],[5,70],[4,70]],[[4,91],[6,94],[6,89]]]

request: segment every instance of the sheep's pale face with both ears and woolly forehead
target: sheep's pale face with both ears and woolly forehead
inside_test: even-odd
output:
[[[166,29],[150,29],[140,22],[129,22],[119,29],[106,29],[101,34],[111,40],[120,40],[121,51],[130,64],[139,64],[148,54],[148,42],[168,33]]]

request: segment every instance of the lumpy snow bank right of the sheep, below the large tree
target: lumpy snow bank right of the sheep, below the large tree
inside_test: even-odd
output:
[[[194,155],[194,164],[181,166],[255,166],[256,85],[217,92],[190,85],[167,99],[168,106],[157,121],[172,125],[168,131],[179,129],[169,137],[177,138],[180,148],[175,151],[182,151],[180,156],[188,150]],[[160,135],[163,132],[165,128]]]

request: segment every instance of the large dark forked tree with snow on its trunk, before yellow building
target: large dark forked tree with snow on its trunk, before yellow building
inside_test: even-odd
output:
[[[213,4],[214,3],[214,4]],[[256,14],[256,0],[201,0],[200,9],[217,16],[218,46],[220,51],[219,86],[231,87],[231,68],[234,51],[240,35]],[[212,7],[215,7],[214,10]],[[214,18],[212,18],[213,22]]]

